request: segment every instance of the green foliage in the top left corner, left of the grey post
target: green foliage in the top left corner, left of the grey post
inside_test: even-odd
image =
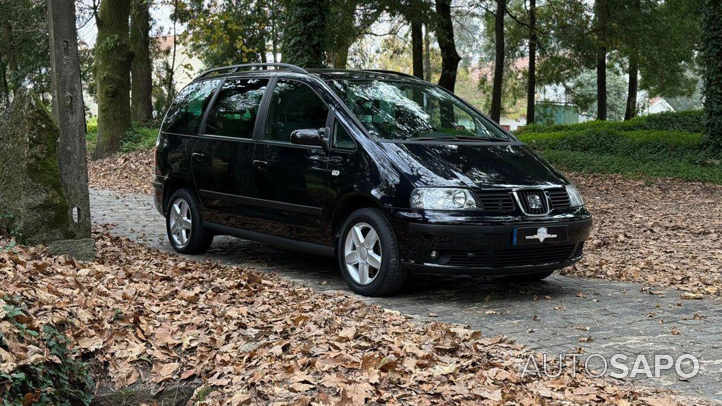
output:
[[[44,0],[0,1],[0,107],[21,87],[51,94],[48,10]]]

